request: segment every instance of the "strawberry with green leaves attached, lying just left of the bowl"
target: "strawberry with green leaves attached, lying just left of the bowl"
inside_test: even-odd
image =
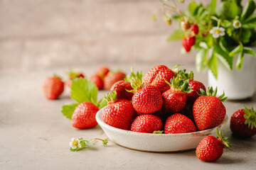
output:
[[[86,129],[97,125],[95,115],[107,105],[103,99],[97,102],[97,91],[92,81],[82,77],[72,81],[70,96],[77,103],[65,103],[61,112],[71,120],[74,128]]]

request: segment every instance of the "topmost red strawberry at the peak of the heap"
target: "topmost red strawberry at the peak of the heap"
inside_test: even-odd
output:
[[[156,86],[162,94],[169,89],[169,85],[164,80],[170,82],[173,77],[174,72],[171,69],[164,65],[157,65],[149,69],[149,72],[144,75],[143,83]]]

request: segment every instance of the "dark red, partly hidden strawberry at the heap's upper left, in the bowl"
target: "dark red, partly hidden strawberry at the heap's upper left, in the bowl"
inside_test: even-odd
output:
[[[131,91],[132,89],[133,88],[131,86],[131,83],[124,80],[120,80],[113,84],[110,91],[117,91],[117,99],[126,99],[128,101],[132,101],[133,93],[127,91]]]

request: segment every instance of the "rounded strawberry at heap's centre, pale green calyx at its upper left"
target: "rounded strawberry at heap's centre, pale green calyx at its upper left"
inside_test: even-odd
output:
[[[133,79],[131,92],[132,106],[138,113],[154,113],[161,109],[163,98],[161,92],[156,86],[144,85],[140,79]]]

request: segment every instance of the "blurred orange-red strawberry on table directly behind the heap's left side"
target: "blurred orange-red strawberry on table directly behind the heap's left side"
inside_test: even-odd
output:
[[[126,75],[121,72],[109,72],[104,80],[104,87],[105,89],[110,90],[113,84],[119,80],[123,80]]]

